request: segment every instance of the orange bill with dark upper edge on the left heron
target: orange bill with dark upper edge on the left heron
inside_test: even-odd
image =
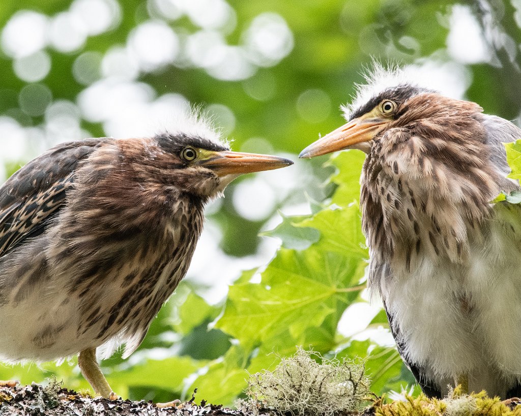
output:
[[[219,176],[226,176],[271,171],[292,164],[289,159],[269,154],[221,151],[215,152],[213,157],[202,162],[201,166],[212,169]]]

